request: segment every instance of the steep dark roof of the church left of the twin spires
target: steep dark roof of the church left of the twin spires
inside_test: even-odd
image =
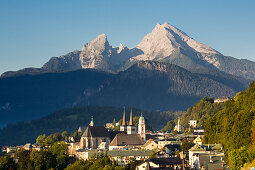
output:
[[[104,126],[88,126],[82,137],[110,137]]]

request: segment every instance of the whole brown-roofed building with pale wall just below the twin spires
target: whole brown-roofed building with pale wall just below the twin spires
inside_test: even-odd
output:
[[[110,150],[118,150],[126,147],[142,147],[144,145],[144,140],[139,134],[117,134],[112,142],[110,143]]]

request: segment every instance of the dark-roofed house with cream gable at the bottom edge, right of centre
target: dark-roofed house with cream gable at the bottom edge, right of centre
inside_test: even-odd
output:
[[[151,158],[136,166],[136,170],[181,169],[183,162],[179,157]]]

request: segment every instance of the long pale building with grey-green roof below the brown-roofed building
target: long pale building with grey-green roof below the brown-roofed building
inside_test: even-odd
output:
[[[98,151],[98,150],[77,150],[77,158],[87,160],[89,158],[107,154],[111,160],[115,160],[119,165],[126,165],[132,160],[144,161],[149,158],[151,150],[110,150],[110,151]]]

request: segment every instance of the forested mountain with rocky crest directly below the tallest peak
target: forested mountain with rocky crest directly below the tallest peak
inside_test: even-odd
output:
[[[75,105],[184,110],[204,96],[234,96],[248,87],[249,82],[245,79],[225,76],[215,74],[213,77],[192,73],[173,64],[139,61],[106,80],[98,89],[88,89],[89,95],[83,93]]]

